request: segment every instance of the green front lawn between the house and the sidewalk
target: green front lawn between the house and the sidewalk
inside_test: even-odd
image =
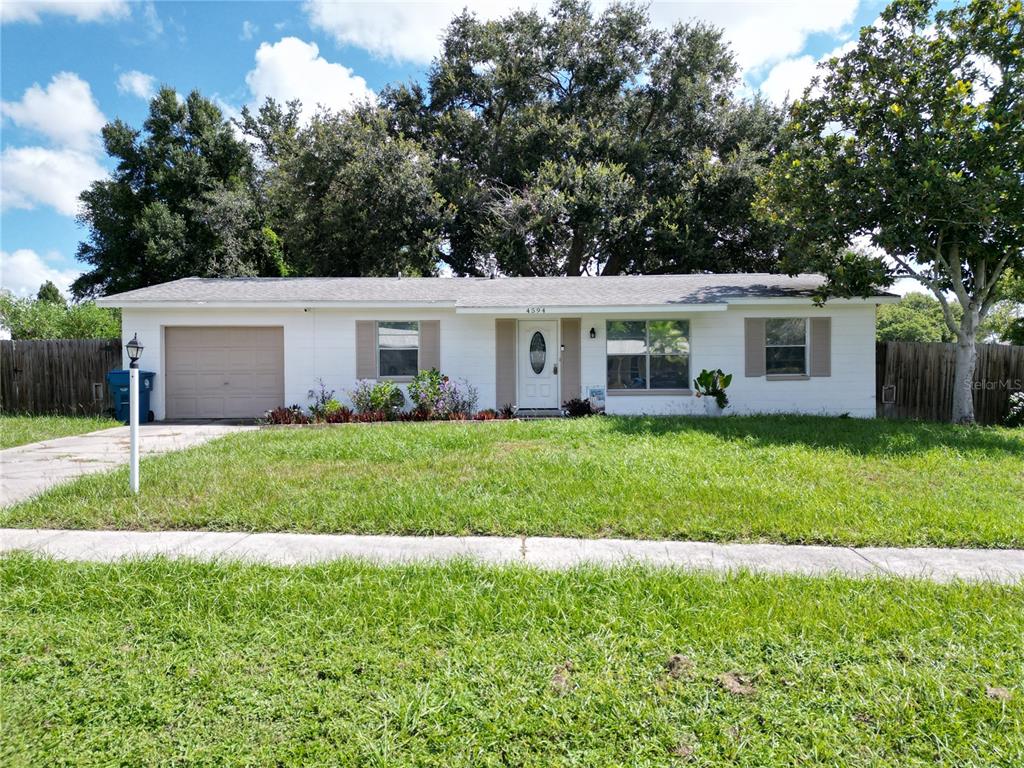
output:
[[[1024,546],[1024,430],[811,417],[343,425],[231,435],[0,525]]]

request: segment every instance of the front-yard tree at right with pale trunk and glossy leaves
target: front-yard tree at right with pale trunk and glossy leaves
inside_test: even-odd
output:
[[[978,329],[1006,269],[1024,268],[1022,15],[1020,0],[892,3],[793,105],[759,202],[790,232],[784,268],[824,272],[826,294],[894,276],[932,291],[957,340],[963,422]],[[856,238],[893,263],[845,251]]]

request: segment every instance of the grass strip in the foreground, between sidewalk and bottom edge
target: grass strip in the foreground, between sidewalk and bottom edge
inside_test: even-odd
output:
[[[27,557],[0,586],[10,768],[1024,763],[1019,587]]]

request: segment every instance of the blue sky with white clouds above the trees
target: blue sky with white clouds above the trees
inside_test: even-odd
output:
[[[344,108],[423,77],[463,5],[502,15],[515,2],[19,2],[0,5],[0,282],[18,294],[62,289],[84,268],[75,200],[110,163],[104,121],[140,126],[160,84],[198,88],[229,114],[265,96]],[[600,4],[595,3],[595,7]],[[815,63],[878,17],[873,0],[656,2],[652,20],[722,27],[742,92],[798,93]]]

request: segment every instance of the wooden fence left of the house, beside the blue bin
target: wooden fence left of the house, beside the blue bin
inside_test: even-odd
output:
[[[0,411],[101,414],[113,406],[106,372],[117,368],[119,339],[0,341]]]

